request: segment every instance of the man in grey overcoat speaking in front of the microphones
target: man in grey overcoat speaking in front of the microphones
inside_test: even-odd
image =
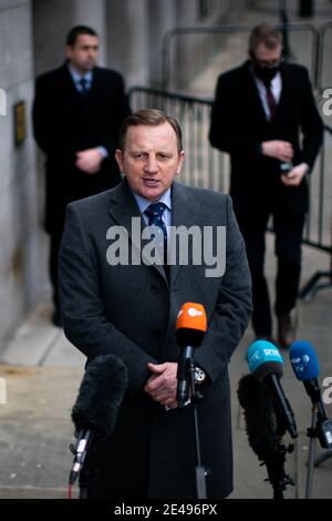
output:
[[[115,429],[89,456],[82,483],[87,498],[196,497],[193,410],[179,410],[176,400],[175,325],[184,303],[199,303],[208,318],[195,351],[204,395],[201,461],[211,471],[208,497],[222,498],[232,490],[228,362],[251,313],[249,268],[231,200],[174,182],[184,161],[181,132],[160,111],[139,111],[124,121],[116,160],[125,180],[69,205],[60,254],[65,335],[89,360],[110,353],[128,370]],[[170,264],[149,249],[149,224],[160,229],[168,251],[169,243],[178,244],[175,229],[187,237]],[[221,229],[225,237],[216,242]],[[205,231],[211,233],[201,243]],[[153,234],[158,237],[156,229]],[[155,243],[160,246],[158,238]],[[225,260],[225,269],[209,272],[208,251],[215,267]]]

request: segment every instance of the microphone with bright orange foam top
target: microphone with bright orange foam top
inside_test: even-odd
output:
[[[181,347],[177,366],[178,407],[184,407],[189,399],[188,372],[193,360],[194,348],[199,347],[207,330],[207,317],[201,304],[183,304],[176,320],[175,336]]]

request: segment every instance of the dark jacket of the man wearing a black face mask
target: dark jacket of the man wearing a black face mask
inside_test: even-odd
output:
[[[308,71],[301,65],[281,65],[282,92],[273,123],[266,119],[250,62],[221,74],[211,112],[212,146],[231,157],[231,195],[236,207],[250,211],[276,207],[290,214],[308,210],[305,180],[299,187],[280,182],[280,162],[266,157],[260,144],[283,140],[294,149],[293,164],[312,168],[322,143],[322,121],[311,92]],[[300,134],[303,134],[301,137]]]

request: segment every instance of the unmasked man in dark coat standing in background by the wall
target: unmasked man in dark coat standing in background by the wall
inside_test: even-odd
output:
[[[33,105],[35,141],[46,155],[45,229],[55,325],[61,325],[58,255],[65,207],[121,181],[114,151],[120,124],[129,114],[122,76],[96,67],[98,37],[93,29],[71,29],[65,51],[61,68],[37,79]]]

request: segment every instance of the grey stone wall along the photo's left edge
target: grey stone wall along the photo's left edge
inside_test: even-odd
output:
[[[28,0],[0,1],[0,348],[39,294],[35,157],[31,129],[33,57]],[[15,145],[13,108],[24,102],[27,137]]]

